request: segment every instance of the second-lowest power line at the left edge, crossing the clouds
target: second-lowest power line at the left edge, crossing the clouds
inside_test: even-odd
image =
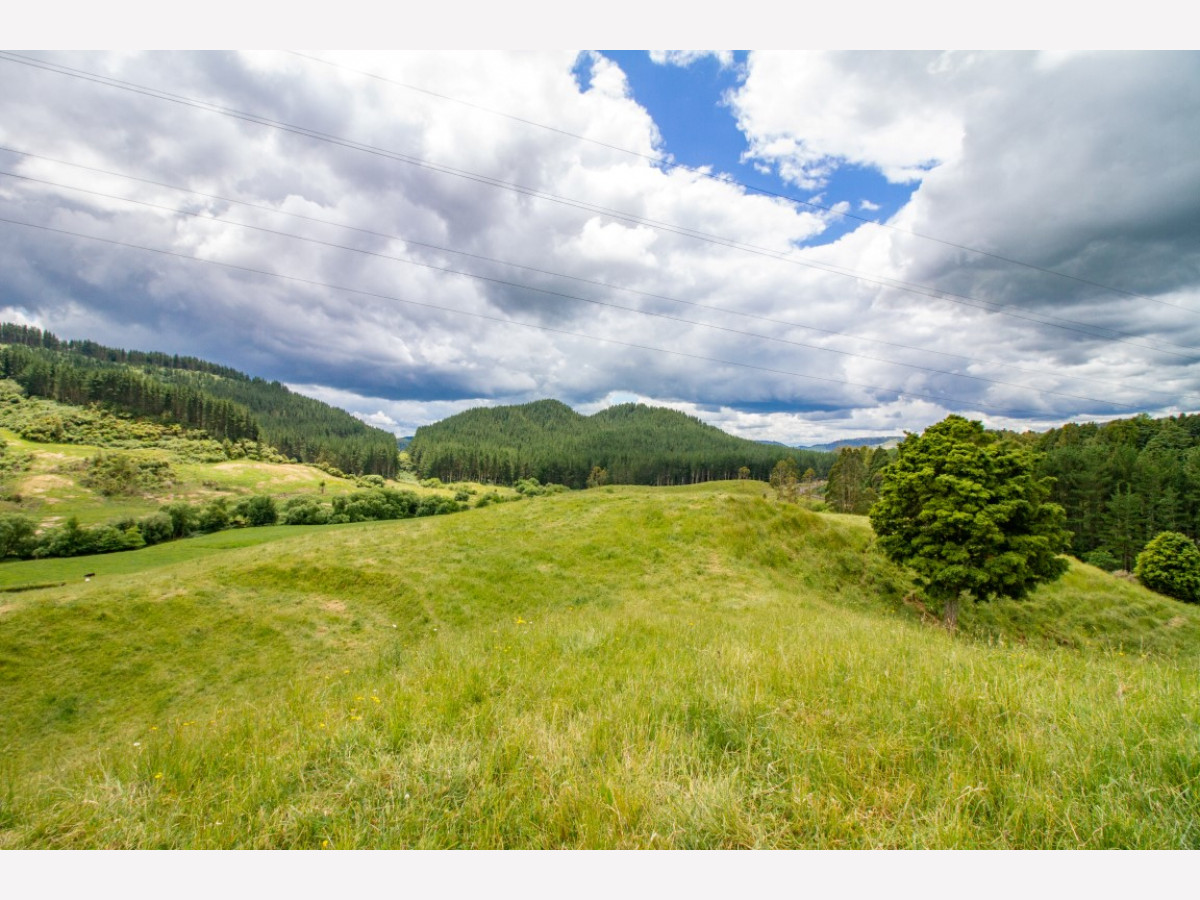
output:
[[[685,318],[679,317],[679,316],[668,316],[666,313],[653,312],[653,311],[648,311],[648,310],[638,310],[638,308],[635,308],[635,307],[622,306],[619,304],[613,304],[613,302],[608,302],[608,301],[605,301],[605,300],[596,300],[596,299],[593,299],[593,298],[577,296],[575,294],[568,294],[568,293],[564,293],[564,292],[560,292],[560,290],[551,290],[548,288],[534,287],[534,286],[530,286],[530,284],[523,284],[521,282],[512,282],[512,281],[506,281],[506,280],[503,280],[503,278],[494,278],[494,277],[486,276],[486,275],[478,275],[478,274],[474,274],[474,272],[466,272],[466,271],[461,271],[461,270],[457,270],[457,269],[450,269],[449,266],[434,265],[432,263],[425,263],[425,262],[420,262],[420,260],[415,260],[415,259],[409,259],[409,258],[406,258],[406,257],[396,257],[396,256],[391,256],[391,254],[388,254],[388,253],[379,253],[377,251],[364,250],[361,247],[352,247],[352,246],[347,246],[347,245],[343,245],[343,244],[334,244],[331,241],[324,241],[324,240],[319,240],[317,238],[308,238],[308,236],[294,234],[294,233],[290,233],[290,232],[281,232],[281,230],[277,230],[277,229],[274,229],[274,228],[265,228],[263,226],[254,226],[254,224],[248,224],[248,223],[245,223],[245,222],[233,222],[233,221],[229,221],[227,218],[222,218],[221,216],[216,216],[216,215],[205,215],[205,214],[200,214],[200,212],[193,212],[191,210],[179,209],[179,208],[175,208],[175,206],[164,206],[162,204],[150,203],[148,200],[138,200],[138,199],[132,199],[132,198],[128,198],[128,197],[118,197],[116,194],[110,194],[110,193],[106,193],[106,192],[102,192],[102,191],[94,191],[94,190],[84,188],[84,187],[74,187],[74,186],[71,186],[71,185],[62,185],[62,184],[54,182],[54,181],[47,181],[44,179],[36,179],[36,178],[31,178],[31,176],[28,176],[28,175],[18,175],[18,174],[14,174],[14,173],[11,173],[11,172],[2,172],[2,170],[0,170],[0,175],[8,176],[8,178],[16,178],[16,179],[20,179],[20,180],[34,182],[34,184],[41,184],[41,185],[48,185],[48,186],[52,186],[52,187],[59,187],[59,188],[65,188],[65,190],[70,190],[70,191],[77,191],[79,193],[86,193],[86,194],[91,194],[91,196],[95,196],[95,197],[104,197],[107,199],[121,200],[124,203],[132,203],[132,204],[137,204],[137,205],[140,205],[140,206],[146,206],[149,209],[157,209],[157,210],[162,210],[162,211],[166,211],[166,212],[173,212],[173,214],[176,214],[176,215],[190,216],[192,218],[197,218],[197,220],[202,220],[202,221],[206,221],[206,222],[221,222],[223,224],[232,224],[232,226],[236,226],[239,228],[246,228],[246,229],[250,229],[250,230],[260,232],[260,233],[264,233],[264,234],[271,234],[271,235],[276,235],[276,236],[280,236],[280,238],[288,238],[288,239],[293,239],[293,240],[306,241],[308,244],[316,244],[316,245],[319,245],[319,246],[330,247],[332,250],[342,250],[342,251],[347,251],[347,252],[352,252],[352,253],[360,253],[360,254],[364,254],[364,256],[374,257],[374,258],[378,258],[378,259],[386,259],[386,260],[390,260],[390,262],[404,263],[407,265],[416,265],[416,266],[421,266],[421,268],[425,268],[425,269],[431,269],[433,271],[444,272],[444,274],[448,274],[448,275],[457,275],[457,276],[461,276],[461,277],[475,278],[475,280],[479,280],[479,281],[485,281],[485,282],[490,282],[490,283],[493,283],[493,284],[500,284],[500,286],[504,286],[504,287],[512,287],[512,288],[517,288],[517,289],[521,289],[521,290],[529,290],[529,292],[535,292],[535,293],[539,293],[539,294],[546,294],[546,295],[550,295],[550,296],[559,296],[559,298],[563,298],[563,299],[566,299],[566,300],[576,300],[576,301],[580,301],[580,302],[593,304],[595,306],[604,306],[604,307],[607,307],[607,308],[612,308],[612,310],[620,310],[623,312],[631,312],[631,313],[635,313],[635,314],[638,314],[638,316],[647,316],[647,317],[650,317],[650,318],[659,318],[659,319],[665,319],[665,320],[670,320],[670,322],[678,322],[678,323],[686,324],[686,325],[692,325],[692,326],[696,326],[696,328],[706,328],[706,329],[710,329],[710,330],[715,330],[715,331],[724,331],[726,334],[737,335],[737,336],[740,336],[740,337],[754,337],[754,338],[758,338],[758,340],[763,340],[763,341],[772,341],[772,342],[775,342],[775,343],[787,344],[787,346],[791,346],[791,347],[803,347],[805,349],[817,350],[817,352],[821,352],[821,353],[833,353],[833,354],[838,354],[838,355],[842,355],[842,356],[848,356],[848,358],[852,358],[852,359],[871,360],[871,361],[875,361],[875,362],[883,362],[883,364],[890,365],[890,366],[900,366],[902,368],[911,368],[911,370],[914,370],[914,371],[928,372],[930,374],[949,376],[949,377],[953,377],[953,378],[966,378],[966,379],[974,380],[974,382],[982,382],[982,383],[985,383],[985,384],[996,384],[996,385],[1002,385],[1002,386],[1007,386],[1007,388],[1020,388],[1022,390],[1032,390],[1032,391],[1034,391],[1037,394],[1046,394],[1046,395],[1052,395],[1052,396],[1058,396],[1058,397],[1067,397],[1069,400],[1080,400],[1080,401],[1085,401],[1085,402],[1088,402],[1088,403],[1108,403],[1108,404],[1115,406],[1115,407],[1124,407],[1126,409],[1138,409],[1139,408],[1138,406],[1134,406],[1134,404],[1130,404],[1130,403],[1121,403],[1120,401],[1114,401],[1114,400],[1098,400],[1096,397],[1085,397],[1085,396],[1080,396],[1078,394],[1067,394],[1064,391],[1051,390],[1051,389],[1048,389],[1048,388],[1033,388],[1031,385],[1018,384],[1015,382],[1003,382],[1003,380],[1000,380],[1000,379],[996,379],[996,378],[986,378],[986,377],[983,377],[983,376],[970,374],[970,373],[966,373],[966,372],[948,372],[946,370],[932,368],[930,366],[920,366],[920,365],[916,365],[916,364],[912,364],[912,362],[900,362],[900,361],[896,361],[896,360],[884,359],[882,356],[870,356],[870,355],[862,354],[862,353],[852,353],[850,350],[841,350],[841,349],[832,348],[832,347],[821,347],[818,344],[804,343],[802,341],[792,341],[792,340],[784,338],[784,337],[775,337],[773,335],[762,335],[762,334],[754,332],[754,331],[742,331],[739,329],[726,328],[724,325],[714,325],[714,324],[706,323],[706,322],[696,322],[694,319],[685,319]]]

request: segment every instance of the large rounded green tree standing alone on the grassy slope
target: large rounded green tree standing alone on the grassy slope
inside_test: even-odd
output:
[[[1028,451],[952,415],[900,444],[870,517],[953,629],[960,598],[1021,598],[1067,570],[1070,534],[1049,496]]]

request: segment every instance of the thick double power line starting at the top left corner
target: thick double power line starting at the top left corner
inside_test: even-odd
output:
[[[1054,328],[1061,328],[1063,330],[1074,331],[1076,334],[1081,334],[1081,335],[1085,335],[1085,336],[1092,337],[1092,338],[1117,341],[1120,343],[1128,343],[1128,344],[1132,344],[1134,347],[1140,347],[1142,349],[1150,349],[1150,350],[1156,350],[1156,352],[1159,352],[1159,353],[1172,354],[1171,350],[1166,350],[1166,349],[1164,349],[1163,347],[1159,347],[1159,346],[1152,346],[1152,344],[1139,343],[1136,341],[1130,341],[1130,340],[1128,340],[1128,332],[1118,331],[1118,330],[1115,330],[1115,329],[1106,329],[1106,328],[1098,326],[1098,325],[1087,325],[1085,323],[1079,323],[1079,322],[1075,322],[1075,320],[1072,320],[1072,319],[1066,319],[1066,318],[1062,318],[1062,317],[1051,316],[1049,313],[1039,313],[1038,314],[1039,317],[1034,317],[1034,316],[1030,316],[1030,314],[1022,314],[1022,313],[1016,313],[1016,312],[1013,312],[1010,310],[1004,308],[1000,304],[995,304],[995,302],[989,301],[989,300],[980,300],[978,298],[971,298],[971,296],[967,296],[965,294],[955,294],[953,292],[940,290],[940,289],[930,288],[928,286],[922,286],[922,284],[913,284],[911,282],[905,282],[905,281],[900,281],[900,280],[896,280],[896,278],[888,278],[888,277],[884,277],[884,276],[868,276],[868,275],[864,275],[864,274],[860,274],[860,272],[856,272],[852,269],[846,269],[846,268],[842,268],[842,266],[835,266],[835,265],[830,265],[830,264],[816,263],[816,262],[806,259],[806,258],[794,257],[794,256],[792,256],[790,253],[782,253],[782,252],[773,251],[773,250],[769,250],[769,248],[766,248],[766,247],[758,247],[756,245],[744,244],[744,242],[740,242],[740,241],[734,241],[734,240],[731,240],[731,239],[721,238],[719,235],[707,234],[707,233],[700,232],[697,229],[685,228],[683,226],[677,226],[677,224],[672,224],[672,223],[667,223],[667,222],[659,222],[656,220],[650,220],[650,218],[646,218],[646,217],[642,217],[642,216],[636,216],[636,215],[629,214],[629,212],[622,212],[620,210],[613,210],[613,209],[610,209],[610,208],[606,208],[606,206],[600,206],[600,205],[587,203],[587,202],[583,202],[583,200],[576,200],[576,199],[571,199],[571,198],[568,198],[568,197],[562,197],[562,196],[553,194],[553,193],[550,193],[550,192],[546,192],[546,191],[540,191],[538,188],[532,188],[532,187],[527,187],[527,186],[523,186],[523,185],[517,185],[517,184],[514,184],[514,182],[504,181],[502,179],[494,179],[494,178],[491,178],[491,176],[487,176],[487,175],[481,175],[479,173],[468,172],[466,169],[457,169],[455,167],[443,166],[440,163],[432,163],[432,162],[430,162],[427,160],[422,160],[420,157],[409,156],[409,155],[406,155],[406,154],[400,154],[400,152],[392,151],[392,150],[385,150],[385,149],[372,146],[372,145],[368,145],[368,144],[362,144],[362,143],[359,143],[359,142],[355,142],[355,140],[350,140],[350,139],[347,139],[347,138],[342,138],[342,137],[338,137],[338,136],[335,136],[335,134],[329,134],[329,133],[325,133],[325,132],[314,131],[312,128],[306,128],[306,127],[298,126],[298,125],[292,125],[292,124],[288,124],[288,122],[281,122],[281,121],[268,119],[265,116],[259,116],[259,115],[256,115],[256,114],[252,114],[252,113],[246,113],[246,112],[242,112],[242,110],[230,109],[228,107],[221,107],[218,104],[209,103],[206,101],[197,101],[194,98],[182,97],[180,95],[169,94],[167,91],[160,91],[160,90],[154,89],[154,88],[146,88],[144,85],[137,85],[137,84],[132,84],[132,83],[128,83],[128,82],[122,82],[120,79],[108,78],[107,76],[97,76],[95,73],[84,72],[82,70],[74,70],[74,68],[71,68],[68,66],[59,66],[56,64],[44,62],[42,60],[36,60],[36,59],[32,59],[32,58],[22,56],[19,54],[0,52],[0,59],[4,59],[4,60],[10,61],[10,62],[17,62],[19,65],[31,66],[31,67],[35,67],[35,68],[42,68],[42,70],[46,70],[46,71],[49,71],[49,72],[55,72],[58,74],[65,74],[65,76],[72,77],[72,78],[79,78],[79,79],[83,79],[83,80],[92,82],[92,83],[96,83],[96,84],[102,84],[102,85],[106,85],[106,86],[118,88],[120,90],[126,90],[126,91],[131,91],[131,92],[134,92],[134,94],[142,94],[142,95],[155,97],[155,98],[158,98],[158,100],[166,100],[166,101],[169,101],[169,102],[173,102],[173,103],[179,103],[179,104],[187,106],[187,107],[196,108],[196,109],[203,109],[203,110],[206,110],[206,112],[214,112],[214,113],[217,113],[220,115],[226,115],[226,116],[229,116],[229,118],[233,118],[233,119],[239,119],[239,120],[242,120],[242,121],[253,122],[253,124],[257,124],[257,125],[263,125],[265,127],[277,128],[280,131],[284,131],[284,132],[288,132],[288,133],[298,134],[298,136],[301,136],[301,137],[308,137],[308,138],[312,138],[312,139],[316,139],[316,140],[322,140],[324,143],[334,144],[334,145],[342,146],[342,148],[346,148],[346,149],[359,150],[361,152],[371,154],[371,155],[379,156],[379,157],[383,157],[383,158],[394,160],[396,162],[403,162],[403,163],[412,164],[412,166],[415,166],[415,167],[419,167],[419,168],[428,169],[431,172],[439,172],[442,174],[450,174],[450,175],[455,175],[457,178],[463,178],[463,179],[469,180],[469,181],[475,181],[478,184],[488,185],[488,186],[497,187],[497,188],[500,188],[500,190],[512,191],[515,193],[520,193],[520,194],[523,194],[523,196],[535,197],[538,199],[544,199],[544,200],[548,200],[548,202],[552,202],[552,203],[558,203],[558,204],[562,204],[562,205],[565,205],[565,206],[570,206],[570,208],[575,208],[575,209],[581,209],[581,210],[587,210],[587,211],[592,211],[592,212],[604,214],[604,215],[611,216],[612,218],[616,218],[618,221],[632,222],[635,224],[644,224],[644,226],[648,226],[648,227],[652,227],[652,228],[656,228],[659,230],[664,230],[664,232],[667,232],[667,233],[671,233],[671,234],[678,234],[680,236],[692,238],[694,240],[704,241],[704,242],[713,244],[713,245],[716,245],[716,246],[724,246],[724,247],[728,247],[728,248],[732,248],[732,250],[739,250],[739,251],[743,251],[743,252],[746,252],[746,253],[754,253],[754,254],[767,257],[767,258],[770,258],[770,259],[776,259],[779,262],[790,263],[792,265],[799,265],[799,266],[804,266],[804,268],[809,268],[809,269],[816,269],[816,270],[820,270],[820,271],[826,271],[826,272],[830,272],[830,274],[835,274],[835,275],[841,275],[844,277],[854,278],[857,281],[862,281],[862,282],[868,283],[868,284],[875,284],[875,286],[878,286],[878,287],[887,287],[887,288],[892,288],[892,289],[895,289],[895,290],[901,290],[901,292],[905,292],[905,293],[916,294],[916,295],[919,295],[919,296],[929,296],[929,298],[934,298],[934,299],[938,299],[938,300],[944,300],[944,301],[948,301],[948,302],[954,302],[954,304],[959,304],[959,305],[966,306],[968,308],[980,310],[980,311],[984,311],[984,312],[992,312],[995,314],[1006,316],[1006,317],[1014,318],[1014,319],[1021,319],[1021,320],[1025,320],[1025,322],[1032,322],[1032,323],[1036,323],[1036,324],[1039,324],[1039,325],[1050,325],[1050,326],[1054,326]],[[1193,352],[1193,353],[1200,352],[1196,348],[1182,347],[1181,344],[1175,344],[1175,343],[1171,343],[1169,341],[1163,341],[1162,343],[1164,343],[1166,346],[1170,346],[1170,347],[1177,347],[1177,348],[1183,349],[1183,350],[1189,350],[1189,352]],[[1187,356],[1184,356],[1183,354],[1174,353],[1172,355],[1187,359]]]

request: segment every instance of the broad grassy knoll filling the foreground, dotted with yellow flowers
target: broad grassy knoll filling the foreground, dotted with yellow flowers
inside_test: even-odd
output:
[[[952,638],[761,485],[295,530],[0,595],[0,847],[1200,847],[1200,611],[1098,570]]]

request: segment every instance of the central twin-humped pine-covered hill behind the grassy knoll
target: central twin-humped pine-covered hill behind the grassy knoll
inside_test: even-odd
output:
[[[766,481],[781,458],[821,476],[834,458],[737,438],[661,407],[625,403],[584,416],[554,400],[469,409],[422,426],[408,452],[424,478],[491,484],[535,478],[569,487],[587,486],[596,469],[604,480],[630,485],[700,484],[739,473]]]

